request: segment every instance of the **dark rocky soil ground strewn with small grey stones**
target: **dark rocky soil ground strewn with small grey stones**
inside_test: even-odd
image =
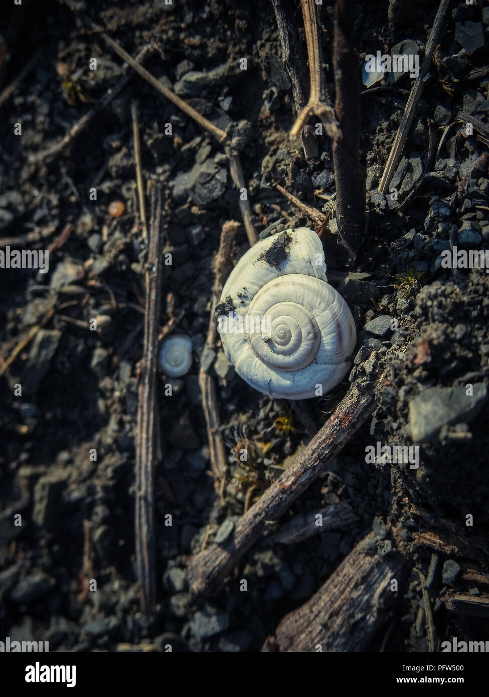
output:
[[[287,137],[294,106],[271,3],[76,4],[81,16],[105,26],[131,55],[154,43],[144,66],[220,128],[235,124],[246,141],[241,159],[260,237],[311,224],[272,183],[317,210],[327,206],[335,190],[331,143],[319,138],[317,158],[306,161]],[[405,40],[423,55],[437,3],[416,5],[422,10],[405,0],[356,3],[359,72],[365,54],[390,52]],[[377,651],[384,642],[384,650],[428,650],[416,569],[427,576],[439,641],[488,639],[483,618],[449,612],[444,602],[454,590],[474,598],[487,594],[486,553],[432,553],[416,539],[423,525],[437,530],[440,521],[456,537],[487,539],[489,530],[488,276],[442,266],[443,250],[489,248],[489,8],[456,2],[449,9],[436,65],[391,184],[398,200],[380,194],[377,185],[412,81],[405,75],[391,84],[388,77],[362,95],[366,242],[354,268],[340,268],[334,255],[326,263],[358,330],[349,382],[372,382],[386,365],[389,384],[373,418],[286,516],[347,501],[356,522],[299,544],[253,547],[239,567],[251,589],[246,599],[230,582],[198,606],[189,603],[188,557],[241,515],[306,443],[285,403],[248,388],[222,351],[208,353],[228,457],[220,503],[209,475],[197,374],[220,230],[226,220],[240,220],[227,158],[212,137],[132,75],[68,148],[39,159],[119,80],[121,60],[97,33],[82,31],[66,6],[31,3],[17,32],[15,11],[1,20],[9,48],[3,87],[40,53],[0,105],[1,241],[5,247],[8,238],[30,234],[29,248],[50,247],[50,270],[0,270],[1,360],[22,342],[0,378],[0,638],[50,641],[51,650],[161,650],[172,643],[174,650],[257,651],[370,528],[379,553],[389,553],[396,544],[393,526],[401,521],[397,544],[405,545],[414,568],[389,623],[366,649]],[[300,10],[296,17],[302,27]],[[333,9],[326,2],[320,17],[333,94]],[[93,56],[98,69],[91,71]],[[243,57],[246,71],[239,69]],[[132,100],[139,105],[144,180],[167,194],[164,251],[171,252],[173,265],[165,268],[162,323],[174,317],[173,331],[191,337],[194,358],[188,375],[170,381],[171,397],[160,389],[158,612],[151,617],[140,612],[135,583],[135,417],[146,243],[137,209]],[[474,125],[469,135],[458,112],[482,127]],[[21,136],[13,135],[17,123]],[[168,123],[171,136],[165,135]],[[430,138],[436,148],[426,169]],[[110,205],[114,201],[122,202],[121,215],[114,215],[121,212]],[[236,258],[247,247],[241,228]],[[160,388],[165,383],[161,376]],[[15,394],[19,384],[22,395]],[[310,401],[318,428],[347,384],[345,378],[329,395]],[[367,464],[366,447],[377,441],[419,445],[419,468]],[[253,452],[246,466],[236,457],[243,442]],[[412,516],[413,505],[424,511],[423,524]],[[168,512],[171,528],[164,525]],[[22,525],[13,522],[17,514]],[[474,566],[477,572],[471,572]],[[96,579],[96,592],[90,592],[89,579]]]

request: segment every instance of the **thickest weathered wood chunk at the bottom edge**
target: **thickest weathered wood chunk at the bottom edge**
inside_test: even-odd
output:
[[[400,552],[380,557],[369,533],[341,562],[306,604],[283,618],[276,629],[283,652],[364,651],[388,619],[389,606],[401,588],[411,564]]]

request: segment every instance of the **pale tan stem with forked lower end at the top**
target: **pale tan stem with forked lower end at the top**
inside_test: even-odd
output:
[[[290,131],[290,137],[296,138],[310,116],[319,116],[326,133],[338,137],[338,124],[331,108],[329,96],[326,93],[324,70],[322,67],[322,48],[317,33],[317,20],[314,0],[301,0],[306,43],[308,47],[310,95],[309,101],[302,109]]]

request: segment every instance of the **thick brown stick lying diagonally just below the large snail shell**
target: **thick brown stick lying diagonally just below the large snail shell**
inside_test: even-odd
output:
[[[381,378],[382,379],[382,378]],[[262,536],[266,521],[276,521],[324,471],[375,407],[375,393],[353,384],[322,429],[294,463],[266,489],[236,524],[224,546],[213,544],[190,559],[188,577],[193,598],[206,595],[224,579],[250,546]]]

